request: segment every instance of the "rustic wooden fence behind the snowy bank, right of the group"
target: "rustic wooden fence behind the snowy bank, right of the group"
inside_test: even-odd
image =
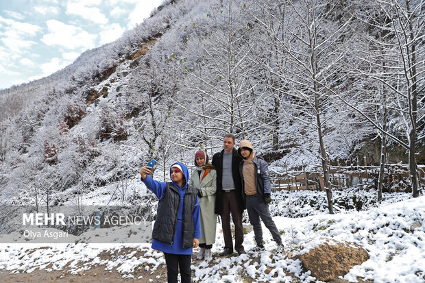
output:
[[[309,167],[303,165],[302,171],[286,171],[280,173],[270,171],[271,182],[275,190],[324,190],[323,171],[319,165]],[[375,166],[331,166],[329,169],[330,186],[332,188],[350,188],[358,184],[374,183],[378,187],[379,167]],[[418,166],[420,182],[425,184],[425,166]],[[384,171],[384,191],[411,191],[406,185],[409,182],[409,165],[387,164]]]

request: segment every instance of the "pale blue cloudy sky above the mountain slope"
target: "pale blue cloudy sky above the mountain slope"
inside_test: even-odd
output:
[[[0,89],[45,77],[119,38],[163,0],[0,1]]]

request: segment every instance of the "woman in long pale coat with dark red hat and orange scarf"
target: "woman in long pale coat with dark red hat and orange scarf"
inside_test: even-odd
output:
[[[201,238],[197,255],[198,260],[213,259],[211,247],[215,243],[217,215],[215,210],[216,176],[215,167],[208,164],[208,155],[199,150],[195,153],[196,169],[192,172],[189,184],[198,189],[199,206],[201,208]]]

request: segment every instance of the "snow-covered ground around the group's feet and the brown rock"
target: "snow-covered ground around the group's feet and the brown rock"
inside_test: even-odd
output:
[[[380,208],[302,218],[274,217],[287,253],[274,254],[276,245],[264,229],[266,251],[254,256],[221,258],[223,235],[217,225],[213,262],[193,260],[194,282],[316,282],[300,260],[321,243],[350,242],[361,245],[369,260],[353,267],[343,279],[374,282],[425,282],[425,196]],[[411,226],[419,222],[411,232]],[[247,228],[245,249],[254,247],[254,232]],[[290,256],[291,255],[291,256]],[[141,282],[165,282],[165,260],[149,244],[1,244],[0,269],[30,273],[38,269],[79,274],[101,267]],[[0,281],[1,280],[0,274]],[[100,279],[100,278],[99,278]],[[79,281],[74,281],[79,282]],[[82,281],[83,282],[83,281]]]

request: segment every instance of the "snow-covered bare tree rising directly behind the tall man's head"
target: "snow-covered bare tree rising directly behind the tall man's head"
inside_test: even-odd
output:
[[[263,126],[255,112],[264,96],[255,91],[252,26],[243,3],[215,1],[204,19],[186,28],[192,30],[186,51],[171,58],[186,75],[184,94],[176,103],[182,112],[179,121],[193,129],[189,143],[199,147],[202,140],[200,146],[209,148],[226,132],[242,138],[252,134]]]

